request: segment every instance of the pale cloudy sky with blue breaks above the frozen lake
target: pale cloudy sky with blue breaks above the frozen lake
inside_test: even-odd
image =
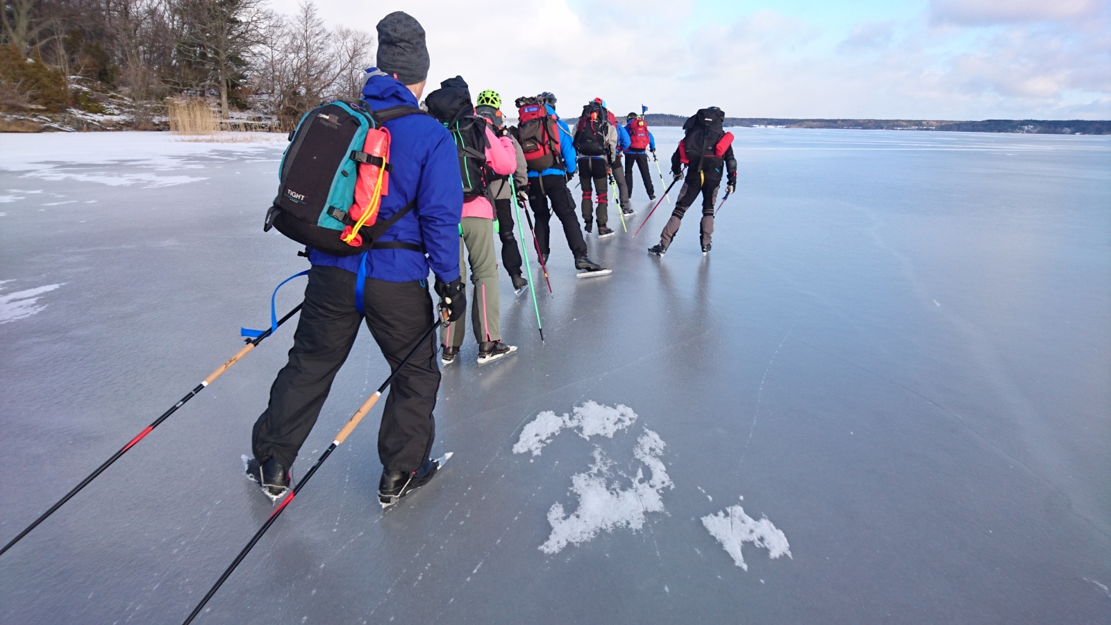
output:
[[[298,0],[273,0],[290,13]],[[373,32],[404,10],[429,81],[624,113],[1111,119],[1111,0],[316,0]]]

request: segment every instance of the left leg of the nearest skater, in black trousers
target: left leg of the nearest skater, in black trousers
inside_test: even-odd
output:
[[[287,469],[293,465],[351,351],[360,321],[354,274],[336,267],[310,269],[289,363],[278,371],[270,404],[254,424],[251,447],[260,462],[274,458]]]

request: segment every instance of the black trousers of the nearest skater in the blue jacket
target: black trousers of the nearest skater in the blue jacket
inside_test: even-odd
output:
[[[364,318],[354,308],[354,274],[338,267],[313,266],[309,271],[289,363],[278,371],[270,405],[254,424],[252,450],[259,460],[277,458],[283,467],[291,467],[317,423]],[[367,278],[367,327],[391,369],[432,328],[432,298],[422,282]],[[378,430],[378,457],[384,468],[416,470],[428,459],[439,388],[436,339],[430,339],[393,378],[386,397]]]

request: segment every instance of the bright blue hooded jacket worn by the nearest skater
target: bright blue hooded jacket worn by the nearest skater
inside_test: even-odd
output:
[[[418,105],[412,92],[389,76],[371,76],[362,96],[371,110]],[[459,277],[459,221],[463,210],[456,142],[442,123],[426,115],[387,121],[386,128],[391,136],[393,170],[378,219],[389,219],[413,198],[417,206],[379,240],[423,245],[428,256],[408,249],[372,249],[367,255],[367,277],[409,282],[428,278],[431,268],[438,278],[450,282]],[[313,265],[339,267],[352,274],[359,271],[361,257],[309,251]]]

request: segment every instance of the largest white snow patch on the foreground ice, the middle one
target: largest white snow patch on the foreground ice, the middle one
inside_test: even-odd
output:
[[[629,414],[631,415],[632,410],[629,410]],[[614,427],[609,436],[617,429],[619,428]],[[667,467],[659,458],[663,447],[664,443],[660,436],[645,428],[644,434],[637,439],[633,456],[643,463],[652,477],[645,482],[643,470],[638,468],[637,476],[628,488],[621,488],[617,482],[607,480],[612,463],[605,458],[601,448],[595,447],[594,463],[590,469],[571,476],[571,492],[579,497],[578,508],[567,514],[562,504],[552,505],[548,510],[548,523],[551,524],[552,532],[548,540],[540,545],[540,550],[546,554],[557,554],[568,544],[590,540],[603,529],[612,532],[615,528],[628,527],[635,532],[644,526],[647,513],[663,512],[663,489],[674,487],[668,476]]]

